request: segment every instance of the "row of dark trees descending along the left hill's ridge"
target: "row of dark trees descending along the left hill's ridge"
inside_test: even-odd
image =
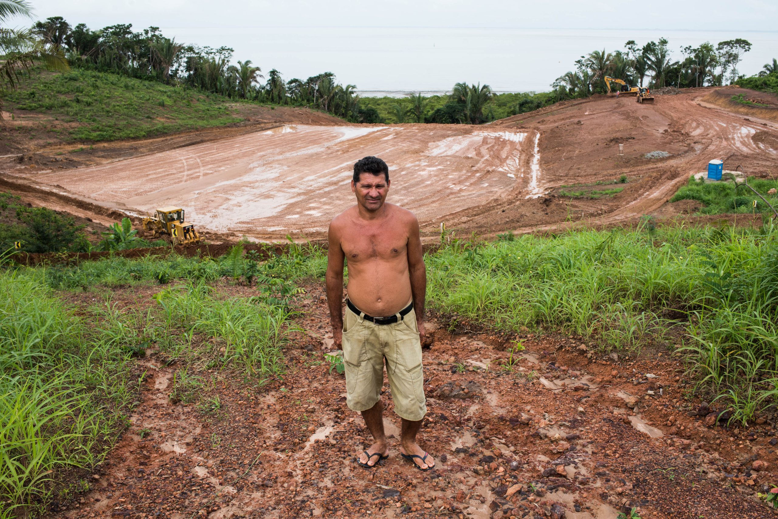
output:
[[[186,85],[234,99],[310,106],[356,122],[378,119],[375,110],[359,106],[356,85],[341,85],[331,72],[284,81],[274,68],[265,78],[251,60],[232,64],[230,47],[181,44],[165,37],[159,27],[135,32],[131,24],[120,23],[91,30],[86,24],[71,26],[61,16],[53,16],[35,23],[31,33],[61,49],[75,68]]]

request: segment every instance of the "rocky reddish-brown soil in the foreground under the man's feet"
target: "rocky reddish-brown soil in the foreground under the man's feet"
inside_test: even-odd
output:
[[[173,404],[179,367],[149,350],[127,433],[92,489],[54,503],[50,517],[615,519],[629,507],[643,519],[774,516],[755,496],[778,475],[772,423],[717,425],[722,409],[688,398],[677,359],[612,358],[574,336],[524,336],[527,350],[503,370],[513,338],[433,326],[419,440],[436,469],[399,456],[387,385],[390,457],[359,467],[370,434],[345,406],[343,376],[322,363],[327,303],[321,286],[307,288],[307,333],[286,348],[283,381],[258,388],[210,371],[197,395],[205,405]],[[149,304],[148,291],[116,295]],[[216,396],[218,409],[208,406]]]

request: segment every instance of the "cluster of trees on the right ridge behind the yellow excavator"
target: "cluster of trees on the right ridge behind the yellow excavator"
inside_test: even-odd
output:
[[[650,41],[638,47],[634,40],[625,50],[594,51],[576,60],[576,68],[552,84],[558,99],[586,97],[607,92],[605,76],[619,78],[629,85],[661,88],[689,88],[734,83],[742,77],[738,64],[751,50],[748,40],[737,38],[720,42],[716,47],[706,42],[699,47],[682,47],[682,59],[671,56],[668,40]]]

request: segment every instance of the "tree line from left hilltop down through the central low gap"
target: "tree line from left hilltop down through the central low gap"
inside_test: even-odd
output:
[[[398,99],[387,117],[376,106],[370,106],[372,103],[361,102],[356,85],[339,84],[331,72],[285,81],[274,68],[265,78],[251,60],[232,64],[230,47],[180,44],[165,37],[159,27],[135,32],[130,24],[117,24],[91,30],[86,24],[71,26],[61,16],[53,16],[35,23],[30,33],[47,46],[60,49],[71,67],[186,85],[235,99],[311,106],[355,122],[394,119],[398,123],[482,124],[496,118],[494,93],[489,85],[480,83],[457,83],[443,104],[440,99],[433,103],[420,93]],[[498,111],[505,117],[534,110],[549,100],[548,96],[534,99],[530,94],[516,100],[510,110]]]

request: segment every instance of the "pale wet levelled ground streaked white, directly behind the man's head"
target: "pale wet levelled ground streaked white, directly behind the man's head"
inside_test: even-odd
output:
[[[284,125],[67,174],[19,175],[131,213],[180,205],[216,232],[321,233],[352,204],[352,167],[364,155],[389,164],[392,202],[438,221],[517,186],[537,196],[537,148],[533,131]]]

